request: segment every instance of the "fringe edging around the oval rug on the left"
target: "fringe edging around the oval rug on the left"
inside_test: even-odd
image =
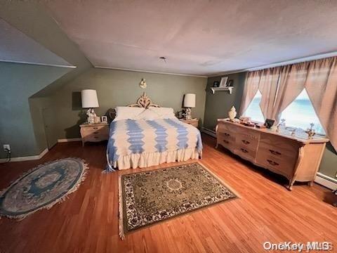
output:
[[[51,164],[51,163],[54,163],[54,162],[59,162],[60,160],[65,160],[65,159],[72,159],[72,160],[77,160],[78,162],[81,162],[82,164],[82,172],[81,172],[81,176],[79,176],[79,179],[78,181],[74,184],[74,186],[72,186],[72,188],[70,190],[67,191],[67,193],[65,195],[63,195],[62,197],[60,197],[58,200],[54,200],[53,202],[49,203],[48,205],[46,206],[43,206],[43,207],[39,207],[38,209],[32,211],[32,212],[29,212],[27,214],[20,214],[20,215],[8,215],[8,214],[0,214],[0,219],[1,219],[1,216],[4,216],[4,217],[7,217],[9,219],[17,219],[17,221],[22,221],[22,219],[25,219],[27,216],[29,216],[30,214],[34,214],[35,212],[41,210],[41,209],[51,209],[51,207],[53,207],[53,205],[55,204],[58,204],[58,203],[62,203],[64,202],[65,200],[67,200],[68,195],[70,195],[71,193],[74,193],[74,191],[76,191],[79,186],[81,185],[81,183],[86,179],[86,176],[88,174],[88,164],[86,163],[85,160],[81,159],[81,158],[78,158],[78,157],[67,157],[67,158],[62,158],[62,159],[58,159],[58,160],[53,160],[53,161],[50,161],[50,162],[45,162],[44,164],[40,164],[39,166],[37,167],[34,167],[32,169],[29,169],[29,171],[25,172],[24,174],[22,174],[18,179],[16,179],[15,181],[12,181],[10,183],[10,185],[5,188],[4,190],[1,190],[1,193],[0,193],[0,197],[3,197],[4,193],[6,193],[6,191],[11,188],[11,186],[14,184],[14,183],[18,183],[18,181],[20,181],[20,179],[22,179],[22,177],[24,176],[27,176],[28,174],[32,173],[32,171],[35,171],[41,167],[44,167],[48,164]]]

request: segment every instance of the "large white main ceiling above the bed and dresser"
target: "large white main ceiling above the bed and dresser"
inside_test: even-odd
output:
[[[94,66],[213,75],[337,51],[337,1],[44,4]]]

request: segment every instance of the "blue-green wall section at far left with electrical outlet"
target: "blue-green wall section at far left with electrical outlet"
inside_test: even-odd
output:
[[[38,155],[44,150],[37,142],[29,108],[29,96],[67,73],[69,68],[0,62],[0,158],[2,145],[10,144],[12,156]]]

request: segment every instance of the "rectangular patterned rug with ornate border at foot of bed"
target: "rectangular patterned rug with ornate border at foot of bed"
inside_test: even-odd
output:
[[[236,197],[199,163],[122,175],[119,236]]]

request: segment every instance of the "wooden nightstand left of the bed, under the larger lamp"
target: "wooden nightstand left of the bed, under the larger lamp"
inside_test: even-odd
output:
[[[109,124],[81,124],[82,145],[87,141],[98,142],[109,139]]]

